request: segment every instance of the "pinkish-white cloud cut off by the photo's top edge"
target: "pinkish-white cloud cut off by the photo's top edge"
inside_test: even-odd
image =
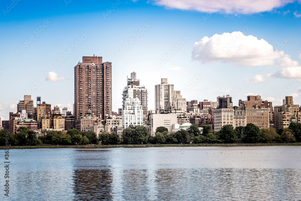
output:
[[[134,2],[137,0],[133,0]],[[253,14],[272,11],[296,0],[153,0],[156,5],[206,13]]]

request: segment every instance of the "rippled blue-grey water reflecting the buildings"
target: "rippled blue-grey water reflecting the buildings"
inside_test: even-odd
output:
[[[5,200],[301,200],[300,147],[10,153]]]

